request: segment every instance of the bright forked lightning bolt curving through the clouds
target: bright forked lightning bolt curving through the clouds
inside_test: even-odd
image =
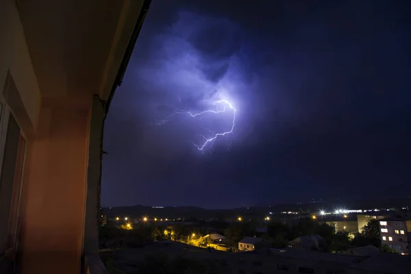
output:
[[[216,110],[204,110],[203,112],[199,112],[199,113],[192,113],[189,111],[181,111],[181,110],[176,110],[173,114],[169,115],[166,117],[166,119],[161,120],[161,121],[157,121],[155,123],[155,125],[164,125],[164,123],[169,122],[173,116],[175,115],[184,115],[184,114],[188,114],[188,116],[191,116],[192,118],[195,117],[201,117],[205,114],[208,113],[212,113],[212,114],[219,114],[222,112],[226,112],[227,110],[231,110],[233,112],[233,120],[232,120],[232,126],[229,128],[229,131],[227,132],[217,132],[214,133],[212,132],[210,129],[207,129],[208,132],[210,132],[212,134],[211,138],[207,138],[206,136],[202,135],[202,134],[198,134],[197,136],[201,136],[203,138],[203,143],[202,145],[197,145],[195,144],[195,142],[192,142],[192,145],[194,145],[199,151],[203,151],[204,149],[206,149],[206,147],[208,147],[208,145],[212,145],[212,143],[214,143],[214,141],[219,138],[219,136],[225,136],[227,134],[232,134],[234,131],[234,127],[236,126],[236,108],[234,108],[234,105],[232,105],[232,103],[230,103],[227,100],[219,100],[219,101],[215,101],[214,105],[216,105]],[[219,110],[219,105],[223,105],[223,109]]]

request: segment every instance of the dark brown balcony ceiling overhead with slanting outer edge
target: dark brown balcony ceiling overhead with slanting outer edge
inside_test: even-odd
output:
[[[121,36],[126,38],[120,43],[124,50],[136,23],[123,20],[130,1],[16,1],[43,100],[99,93],[107,67],[112,67],[110,52],[119,45],[116,32],[119,27],[129,32]],[[137,18],[139,12],[131,13]]]

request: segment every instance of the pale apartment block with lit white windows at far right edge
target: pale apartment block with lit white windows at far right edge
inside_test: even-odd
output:
[[[388,245],[398,253],[408,254],[411,247],[411,220],[393,216],[379,220],[381,245]]]

